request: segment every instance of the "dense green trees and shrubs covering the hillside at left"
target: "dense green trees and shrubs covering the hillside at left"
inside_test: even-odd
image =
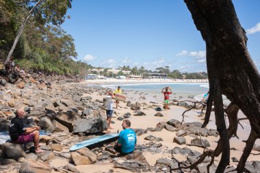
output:
[[[86,74],[91,66],[75,61],[74,39],[61,25],[72,0],[0,0],[0,63],[12,56],[25,70],[60,75]],[[12,52],[13,51],[13,52]]]

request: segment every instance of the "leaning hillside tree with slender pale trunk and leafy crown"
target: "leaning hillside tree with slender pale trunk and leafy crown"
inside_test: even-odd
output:
[[[17,36],[14,40],[12,48],[8,53],[8,57],[5,59],[4,64],[10,60],[16,44],[23,33],[25,24],[31,16],[33,16],[39,25],[46,25],[51,23],[52,25],[60,25],[64,22],[65,14],[68,8],[71,8],[72,0],[25,0],[25,1],[16,1],[18,3],[17,8],[21,6],[22,8],[29,9],[27,14],[23,18],[21,27],[18,29]]]

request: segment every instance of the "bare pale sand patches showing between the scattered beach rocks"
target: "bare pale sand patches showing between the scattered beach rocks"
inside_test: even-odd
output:
[[[113,81],[111,81],[112,83]],[[132,81],[131,81],[132,82]],[[154,82],[154,81],[153,81]],[[197,82],[197,81],[196,81]],[[99,83],[99,84],[104,84],[104,83],[110,83],[110,81],[107,80],[99,80],[99,81],[86,81],[84,83],[84,85],[91,85],[93,83]],[[124,83],[126,83],[126,81],[124,81]],[[122,88],[123,89],[123,88]],[[148,99],[146,100],[140,100],[140,96],[142,96],[143,93],[137,92],[137,91],[131,91],[129,93],[127,93],[127,96],[129,96],[130,98],[127,98],[127,101],[131,101],[131,103],[135,103],[135,101],[138,101],[141,103],[147,103],[147,105],[152,105],[150,103],[150,101]],[[104,98],[105,95],[101,95],[100,93],[97,92],[93,92],[91,95],[88,94],[88,96],[92,96],[92,100],[95,99],[101,99]],[[159,96],[158,96],[159,97]],[[153,101],[157,102],[158,106],[162,107],[161,101],[163,101],[163,96],[161,95],[160,98],[153,98]],[[115,104],[114,104],[115,107]],[[143,109],[144,107],[141,108],[141,111],[144,111],[144,113],[146,114],[146,116],[133,116],[133,111],[130,109],[130,107],[127,107],[127,103],[123,103],[120,102],[118,109],[114,109],[114,115],[112,118],[112,121],[114,121],[114,124],[112,124],[112,127],[114,129],[111,130],[112,133],[117,132],[118,130],[121,131],[122,127],[122,121],[117,120],[118,116],[123,116],[125,113],[130,112],[131,113],[131,118],[129,118],[129,120],[131,121],[131,128],[133,129],[146,129],[148,127],[156,127],[156,124],[158,122],[167,122],[170,119],[176,119],[179,120],[181,122],[182,120],[182,116],[181,114],[183,114],[183,111],[185,111],[186,109],[184,107],[179,107],[179,106],[174,106],[171,105],[170,106],[170,110],[164,110],[161,111],[161,114],[164,115],[164,117],[157,117],[154,116],[157,111],[155,111],[155,109]],[[198,117],[198,112],[200,110],[191,110],[191,111],[187,111],[185,113],[185,122],[203,122],[202,117]],[[239,117],[243,117],[244,115],[242,114],[241,111],[239,111]],[[216,129],[216,124],[214,122],[214,112],[211,112],[211,120],[207,126],[207,129]],[[228,120],[226,120],[226,122],[228,122]],[[231,148],[236,148],[237,150],[231,150],[231,158],[232,157],[236,157],[237,159],[240,158],[240,156],[242,155],[243,152],[243,148],[245,146],[245,142],[242,142],[242,140],[247,139],[249,132],[250,132],[250,126],[248,126],[248,122],[247,120],[242,121],[242,124],[244,126],[244,129],[242,129],[242,127],[238,127],[237,129],[237,135],[239,137],[239,139],[232,137],[230,140],[230,146]],[[228,124],[227,124],[228,125]],[[178,145],[176,143],[173,143],[173,138],[175,136],[176,132],[170,132],[170,131],[166,131],[165,129],[163,129],[162,131],[156,131],[156,132],[151,132],[148,131],[147,133],[145,133],[144,135],[140,135],[137,137],[138,139],[138,144],[146,144],[150,141],[147,141],[144,139],[144,137],[148,136],[148,135],[154,135],[155,137],[161,137],[163,139],[163,141],[159,142],[162,144],[163,147],[170,149],[173,149],[174,147],[185,147],[186,145]],[[190,144],[190,140],[194,139],[193,137],[190,136],[185,136],[186,138],[186,142],[187,144]],[[212,136],[208,136],[208,137],[202,137],[202,138],[207,138],[207,140],[209,141],[210,144],[210,149],[214,149],[217,146],[217,142],[219,137],[212,137]],[[260,144],[259,139],[257,140],[256,144]],[[197,150],[198,152],[202,153],[203,152],[203,148],[199,148],[196,146],[188,146],[189,148],[191,148],[192,150]],[[252,153],[257,153],[255,151],[252,151]],[[148,161],[148,163],[150,163],[151,165],[155,164],[155,161],[157,159],[160,158],[171,158],[170,155],[166,155],[166,154],[151,154],[150,152],[144,152],[144,155],[146,156],[146,160]],[[186,157],[184,157],[183,155],[174,155],[174,157],[176,157],[177,159],[179,159],[180,161],[184,161],[186,159]],[[220,157],[216,157],[215,158],[215,163],[218,164],[218,161],[220,160]],[[260,156],[258,155],[250,155],[248,157],[248,161],[257,161],[260,160]],[[103,172],[104,170],[109,170],[112,169],[113,164],[112,163],[104,163],[102,164],[102,168],[99,167],[100,163],[95,163],[93,165],[77,165],[76,168],[82,172]],[[237,163],[233,163],[232,159],[230,162],[230,165],[237,165]],[[114,169],[114,168],[113,168]],[[128,172],[127,170],[120,170],[120,169],[114,169],[115,172]]]

